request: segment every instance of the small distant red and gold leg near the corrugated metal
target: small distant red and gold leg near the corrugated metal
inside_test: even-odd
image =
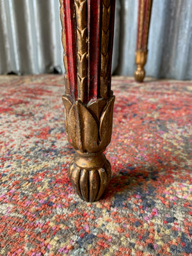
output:
[[[134,78],[137,82],[143,82],[145,77],[145,63],[147,61],[148,29],[150,26],[150,15],[152,0],[139,0],[138,8],[138,36],[136,45],[136,65]]]

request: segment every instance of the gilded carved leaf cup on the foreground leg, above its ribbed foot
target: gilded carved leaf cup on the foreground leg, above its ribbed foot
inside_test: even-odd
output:
[[[87,105],[81,100],[72,104],[66,95],[62,99],[70,144],[81,153],[103,152],[111,140],[115,96]]]

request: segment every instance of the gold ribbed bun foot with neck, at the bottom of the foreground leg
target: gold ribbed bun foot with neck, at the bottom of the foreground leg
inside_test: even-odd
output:
[[[69,168],[69,179],[86,202],[99,200],[111,180],[111,164],[104,154],[76,154]]]

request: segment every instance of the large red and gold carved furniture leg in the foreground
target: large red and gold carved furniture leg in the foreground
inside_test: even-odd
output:
[[[99,200],[111,179],[103,152],[111,141],[111,60],[115,0],[60,0],[67,138],[76,150],[69,178],[87,202]]]

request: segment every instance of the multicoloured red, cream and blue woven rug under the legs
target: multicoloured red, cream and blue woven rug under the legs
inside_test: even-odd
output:
[[[113,177],[72,188],[63,77],[1,76],[0,255],[192,255],[192,82],[114,77]]]

